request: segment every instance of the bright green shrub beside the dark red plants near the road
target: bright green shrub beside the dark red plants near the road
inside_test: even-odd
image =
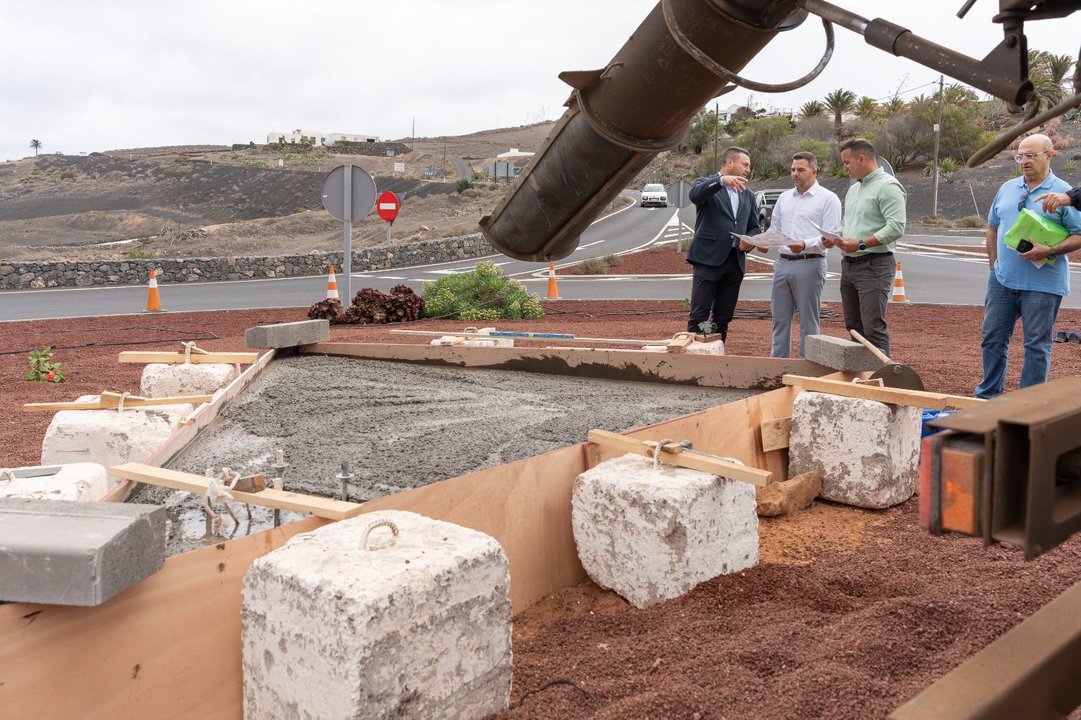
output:
[[[425,282],[421,295],[429,318],[534,320],[544,316],[540,298],[506,278],[491,261],[478,263],[472,272]]]

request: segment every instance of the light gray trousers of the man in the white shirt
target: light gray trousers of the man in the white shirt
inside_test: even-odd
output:
[[[773,347],[770,356],[790,358],[792,316],[800,314],[800,357],[806,357],[808,335],[817,335],[822,286],[826,283],[826,258],[777,258],[773,264],[770,308],[773,314]]]

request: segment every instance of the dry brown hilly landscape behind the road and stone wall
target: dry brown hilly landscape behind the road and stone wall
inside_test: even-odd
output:
[[[385,143],[393,151],[357,155],[305,146],[186,146],[132,148],[86,156],[41,155],[0,163],[0,261],[124,259],[262,256],[320,253],[342,246],[342,223],[321,204],[323,179],[353,163],[379,191],[402,199],[391,242],[478,231],[477,223],[507,190],[506,181],[479,173],[511,149],[537,151],[555,123],[489,130],[455,137]],[[1064,124],[1069,137],[1078,123]],[[382,148],[379,148],[382,149]],[[529,158],[516,162],[524,165]],[[663,152],[639,175],[646,182],[693,179],[699,157]],[[1078,182],[1077,148],[1053,169]],[[404,171],[396,172],[396,163]],[[399,164],[399,168],[401,168]],[[931,214],[931,178],[902,173],[909,223],[948,228],[965,216],[986,216],[1001,183],[1017,174],[1009,152],[976,170],[958,170],[939,184],[938,218]],[[462,181],[469,181],[464,187]],[[843,192],[845,177],[822,183]],[[787,177],[755,189],[789,187]],[[970,217],[970,225],[975,224]],[[374,213],[355,221],[355,249],[383,244],[386,224]]]

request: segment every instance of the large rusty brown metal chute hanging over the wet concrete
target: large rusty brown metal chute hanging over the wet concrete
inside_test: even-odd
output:
[[[797,0],[662,0],[604,68],[560,75],[574,89],[568,110],[481,218],[489,242],[522,261],[570,255],[593,218],[729,89],[681,41],[737,71],[805,17]]]

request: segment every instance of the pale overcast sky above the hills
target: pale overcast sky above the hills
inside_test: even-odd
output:
[[[835,0],[976,57],[1002,38],[996,0]],[[8,0],[0,3],[0,160],[160,145],[263,143],[293,129],[386,139],[555,120],[561,70],[603,67],[655,0]],[[955,6],[956,5],[956,6]],[[1029,46],[1076,56],[1081,13],[1027,26]],[[938,74],[837,29],[827,70],[804,89],[756,93],[798,108],[838,88],[930,93]],[[811,18],[747,67],[783,82],[824,48]],[[947,78],[947,82],[949,79]],[[745,104],[748,93],[722,98]]]

